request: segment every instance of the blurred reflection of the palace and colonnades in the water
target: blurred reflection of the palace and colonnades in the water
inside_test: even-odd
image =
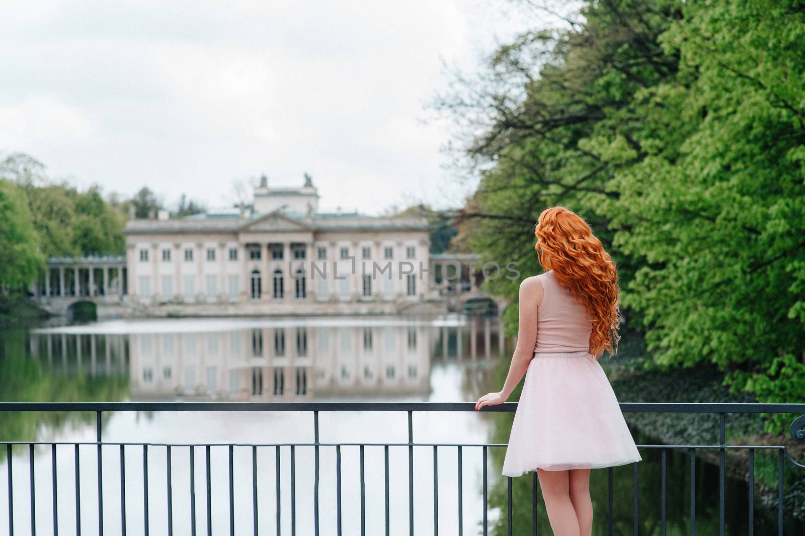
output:
[[[134,400],[378,398],[427,395],[432,359],[501,355],[501,328],[489,318],[126,334],[48,328],[32,334],[31,353],[53,373],[127,374]]]

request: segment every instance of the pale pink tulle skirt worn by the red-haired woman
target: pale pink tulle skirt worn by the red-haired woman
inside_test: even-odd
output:
[[[642,460],[604,369],[588,352],[535,353],[514,414],[504,476]]]

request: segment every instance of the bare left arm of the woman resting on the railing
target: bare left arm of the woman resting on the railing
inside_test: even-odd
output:
[[[517,347],[511,357],[509,373],[503,388],[497,393],[485,394],[478,398],[475,409],[483,406],[494,406],[506,402],[520,383],[528,369],[528,364],[534,357],[534,347],[537,342],[537,307],[543,300],[543,285],[536,277],[530,277],[520,283],[519,293],[520,321],[517,332]]]

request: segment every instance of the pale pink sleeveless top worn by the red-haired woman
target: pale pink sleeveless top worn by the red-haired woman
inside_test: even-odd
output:
[[[543,284],[543,301],[537,307],[535,352],[588,352],[592,322],[587,309],[556,280],[553,270],[537,276]]]

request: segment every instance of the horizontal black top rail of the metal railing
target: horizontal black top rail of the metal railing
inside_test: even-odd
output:
[[[620,402],[624,413],[805,413],[805,404]],[[481,411],[514,411],[517,402]],[[474,411],[474,402],[0,402],[0,411]]]

